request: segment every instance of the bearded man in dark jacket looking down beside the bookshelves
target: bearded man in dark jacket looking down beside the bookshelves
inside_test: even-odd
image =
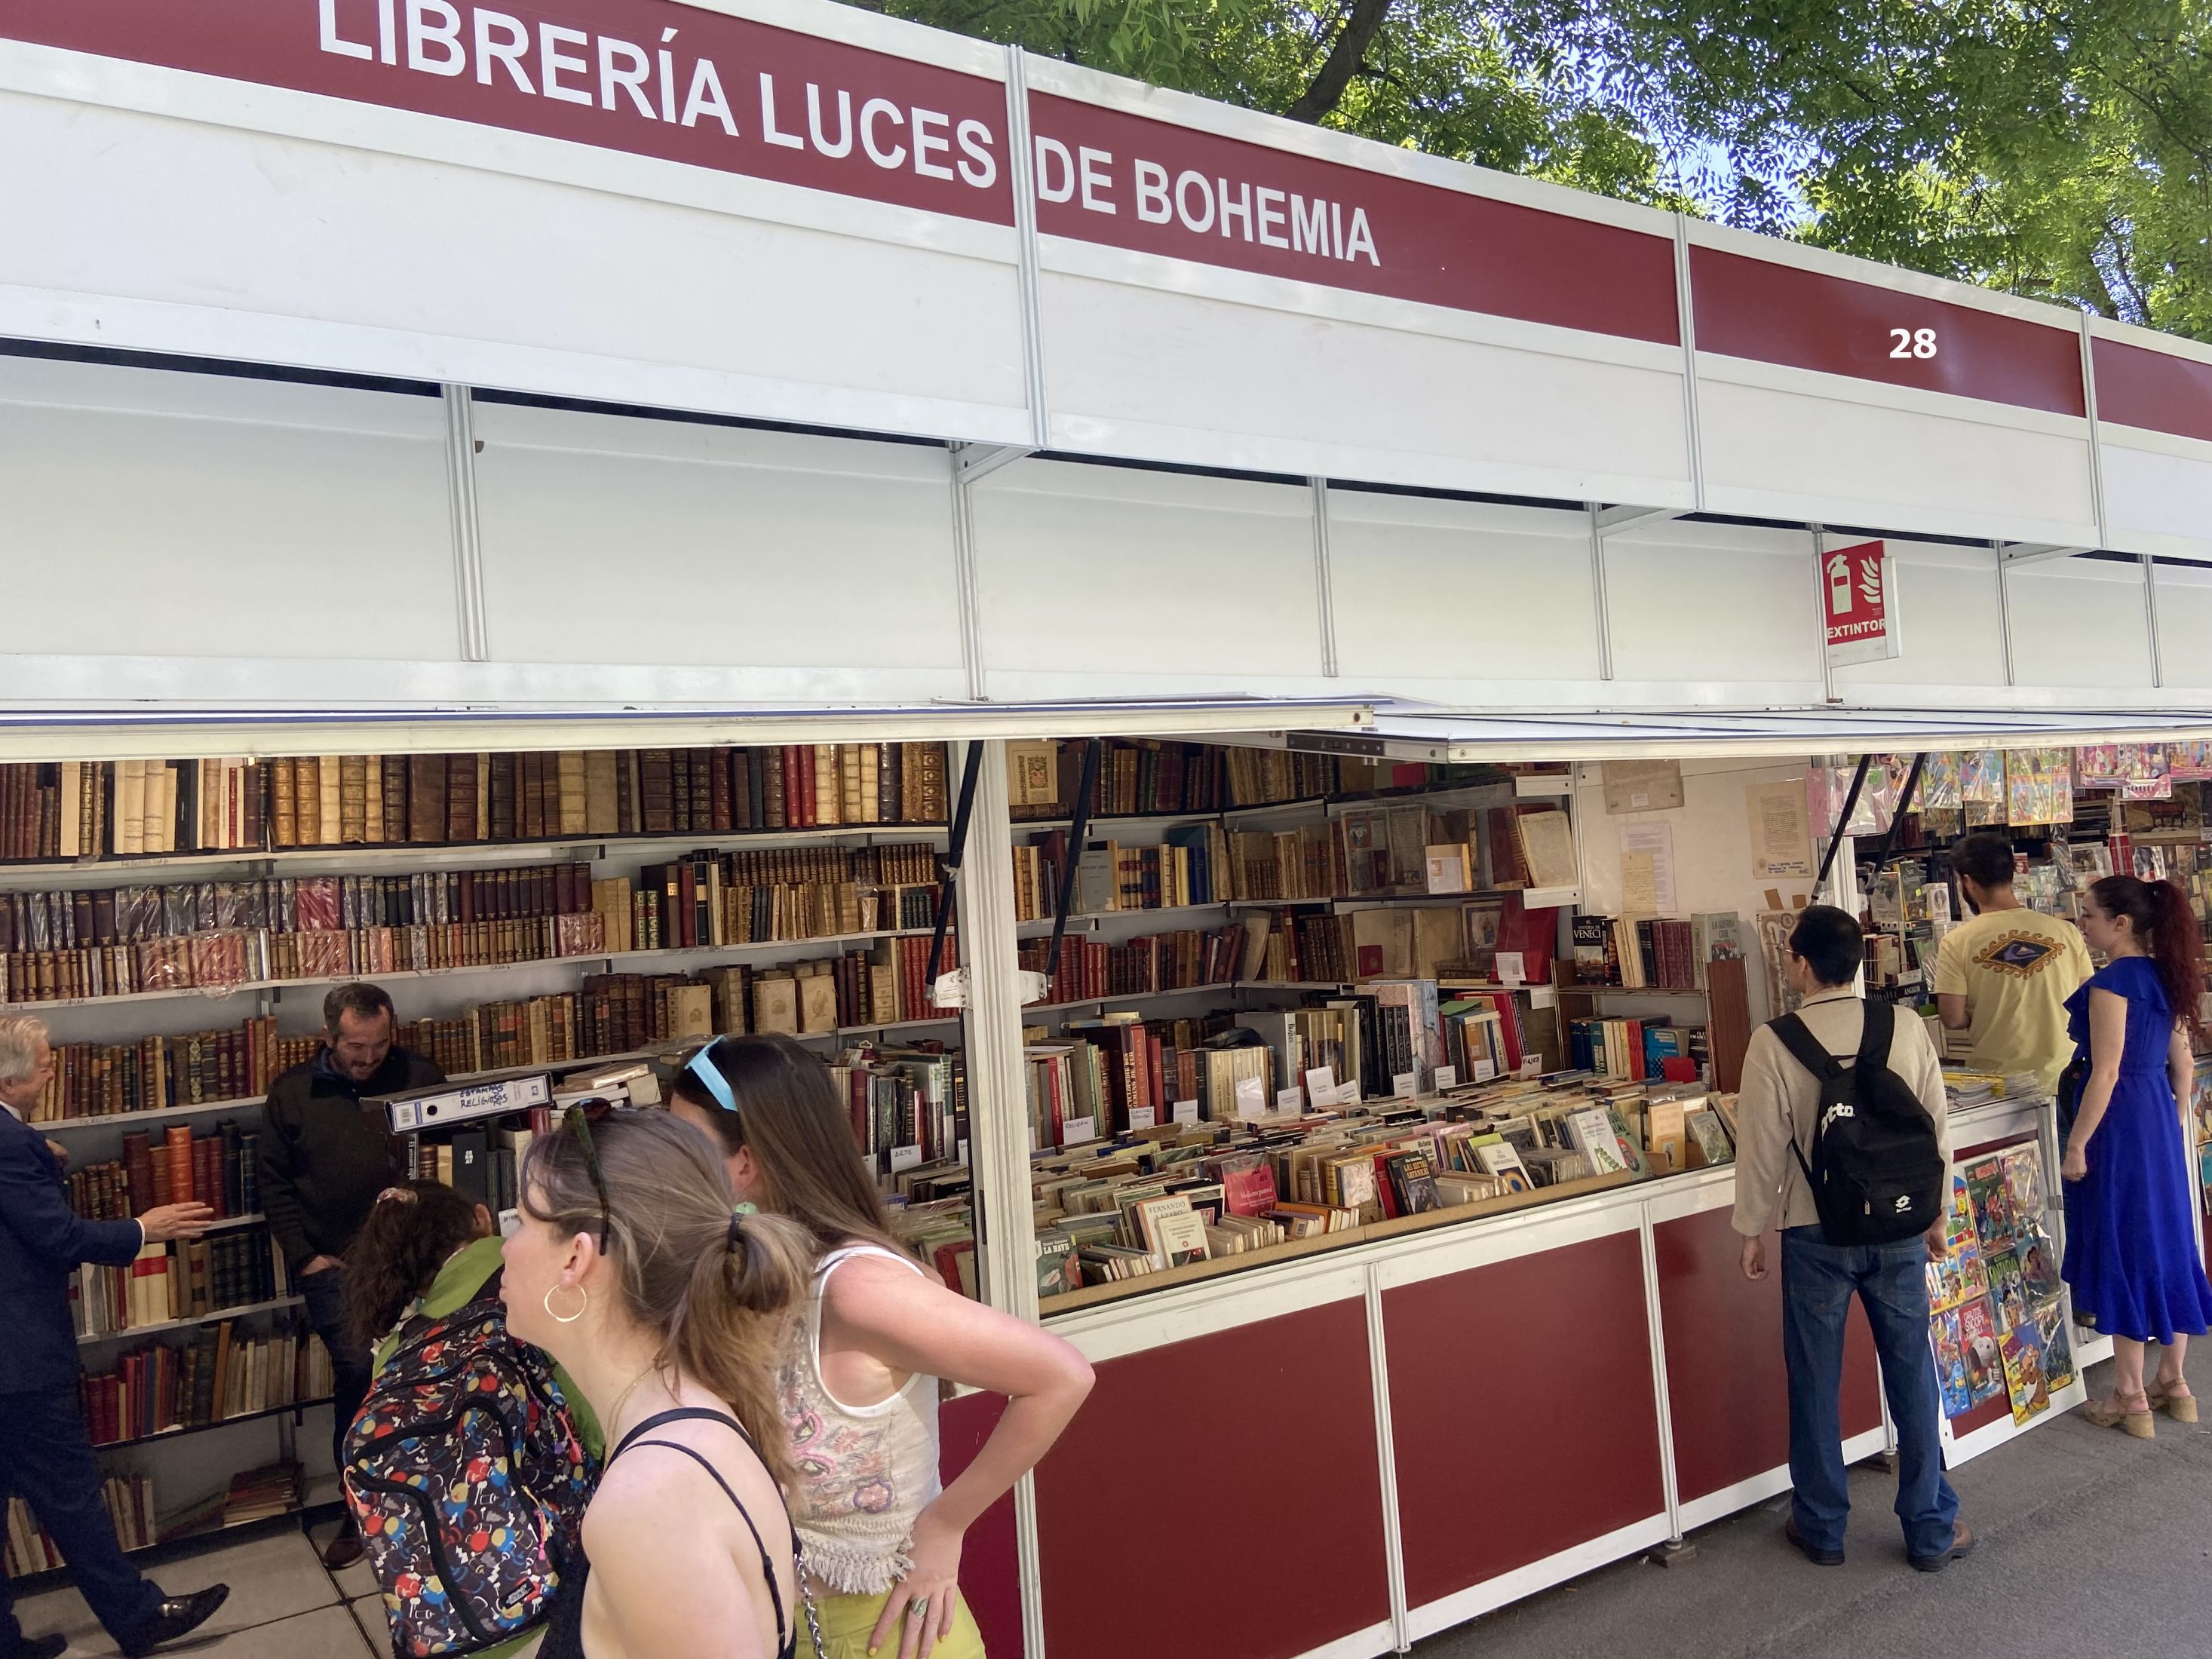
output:
[[[345,1321],[345,1252],[376,1203],[403,1179],[400,1144],[361,1110],[363,1097],[442,1084],[422,1055],[396,1048],[392,998],[374,984],[341,984],[323,998],[323,1046],[270,1084],[261,1135],[261,1208],[307,1298],[307,1323],[330,1349],[332,1455],[369,1391],[369,1349]],[[332,1571],[361,1559],[352,1524],[323,1551]]]

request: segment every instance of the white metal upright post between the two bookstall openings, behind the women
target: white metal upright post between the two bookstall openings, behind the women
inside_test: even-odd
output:
[[[1037,1318],[1037,1230],[1029,1201],[1029,1097],[1022,1077],[1020,945],[1013,925],[1013,825],[1006,805],[1006,743],[960,745],[962,776],[975,770],[969,847],[958,867],[960,938],[967,947],[969,1168],[975,1179],[975,1239],[991,1307]],[[1022,1650],[1044,1659],[1044,1599],[1037,1577],[1037,1491],[1013,1489],[1013,1540],[1022,1586]]]

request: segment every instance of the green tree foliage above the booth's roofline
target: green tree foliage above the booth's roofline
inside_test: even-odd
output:
[[[885,0],[1287,113],[1352,0]],[[2212,0],[1394,0],[1325,126],[2212,338]]]

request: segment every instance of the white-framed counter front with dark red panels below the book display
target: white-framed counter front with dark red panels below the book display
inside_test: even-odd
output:
[[[2031,1141],[2046,1102],[1953,1119],[1962,1159]],[[1781,1274],[1743,1279],[1732,1206],[1710,1168],[1051,1318],[1097,1389],[1037,1469],[1046,1650],[1380,1655],[1787,1491]],[[1947,1458],[2020,1431],[1984,1407]],[[1843,1433],[1854,1462],[1889,1444],[1856,1307]],[[1175,1571],[1133,1595],[1130,1559]],[[987,1584],[1011,1564],[971,1537],[993,1652],[1020,1650]]]

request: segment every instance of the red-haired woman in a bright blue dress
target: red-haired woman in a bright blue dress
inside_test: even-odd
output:
[[[2197,1422],[2181,1356],[2212,1321],[2181,1139],[2203,938],[2179,887],[2135,876],[2088,889],[2081,933],[2110,960],[2066,1002],[2088,1082],[2059,1168],[2064,1274],[2075,1316],[2112,1338],[2115,1369],[2110,1398],[2090,1400],[2081,1416],[2148,1440],[2159,1409]],[[2146,1387],[2148,1343],[2163,1354]]]

